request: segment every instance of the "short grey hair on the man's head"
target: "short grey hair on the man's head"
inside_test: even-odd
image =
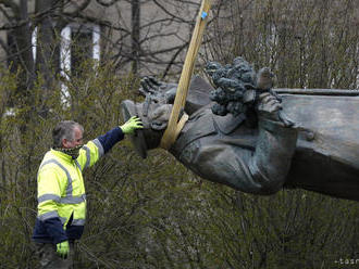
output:
[[[62,140],[73,141],[75,128],[84,132],[84,127],[74,120],[62,120],[52,130],[52,148],[62,148]]]

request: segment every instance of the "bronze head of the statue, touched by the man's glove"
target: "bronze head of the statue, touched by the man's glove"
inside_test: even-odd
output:
[[[132,116],[138,116],[144,124],[144,129],[136,130],[129,137],[135,151],[143,158],[147,157],[148,150],[160,145],[163,132],[168,127],[172,106],[172,104],[156,102],[150,95],[147,95],[143,103],[134,103],[131,100],[121,103],[120,110],[124,121]]]

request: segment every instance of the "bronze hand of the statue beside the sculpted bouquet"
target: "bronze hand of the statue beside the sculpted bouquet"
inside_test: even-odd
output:
[[[257,112],[259,116],[272,120],[278,120],[278,112],[282,110],[280,101],[270,92],[264,92],[259,95]]]

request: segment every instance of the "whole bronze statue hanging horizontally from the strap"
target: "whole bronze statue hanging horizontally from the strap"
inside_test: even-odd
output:
[[[215,89],[193,79],[183,112],[189,119],[169,149],[181,163],[247,193],[301,188],[359,201],[358,97],[281,93],[268,68],[256,73],[242,57],[206,69]],[[145,158],[160,145],[176,85],[145,78],[141,86],[145,102],[126,100],[121,112],[144,121],[132,142]]]

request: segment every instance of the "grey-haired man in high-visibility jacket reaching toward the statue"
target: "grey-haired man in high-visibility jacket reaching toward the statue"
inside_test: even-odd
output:
[[[78,123],[64,120],[53,129],[52,149],[45,154],[37,175],[38,214],[33,240],[41,268],[72,268],[73,243],[82,236],[86,221],[83,170],[138,128],[143,128],[140,119],[132,117],[85,145],[84,128]]]

